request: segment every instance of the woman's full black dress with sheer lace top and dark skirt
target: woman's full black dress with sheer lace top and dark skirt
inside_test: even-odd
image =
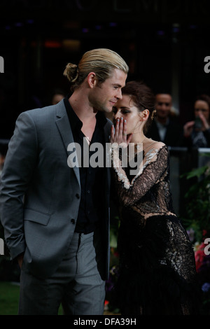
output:
[[[176,314],[190,314],[197,298],[195,256],[172,207],[167,146],[157,146],[143,155],[135,176],[130,175],[129,167],[122,167],[120,157],[111,158],[121,220],[118,294],[124,309],[136,304],[139,314],[147,314],[147,307],[150,314],[151,309],[157,311],[158,303],[152,305],[151,300],[158,300],[159,293],[160,300],[165,296],[163,313],[173,309]],[[145,291],[148,286],[151,288]],[[180,300],[178,295],[182,295]]]

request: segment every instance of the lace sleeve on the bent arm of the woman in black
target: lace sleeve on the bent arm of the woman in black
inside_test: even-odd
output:
[[[143,168],[139,168],[139,173],[132,181],[128,179],[122,162],[114,149],[114,156],[111,157],[111,164],[117,183],[120,201],[125,205],[132,205],[143,197],[156,183],[158,183],[168,168],[167,146],[159,149],[152,148],[144,157]]]

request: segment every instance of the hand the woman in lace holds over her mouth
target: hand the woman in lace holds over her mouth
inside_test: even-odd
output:
[[[127,123],[123,118],[118,118],[116,120],[116,127],[112,125],[111,127],[111,144],[117,143],[118,145],[125,144],[125,147],[128,146],[130,140],[132,139],[132,134],[127,135]]]

